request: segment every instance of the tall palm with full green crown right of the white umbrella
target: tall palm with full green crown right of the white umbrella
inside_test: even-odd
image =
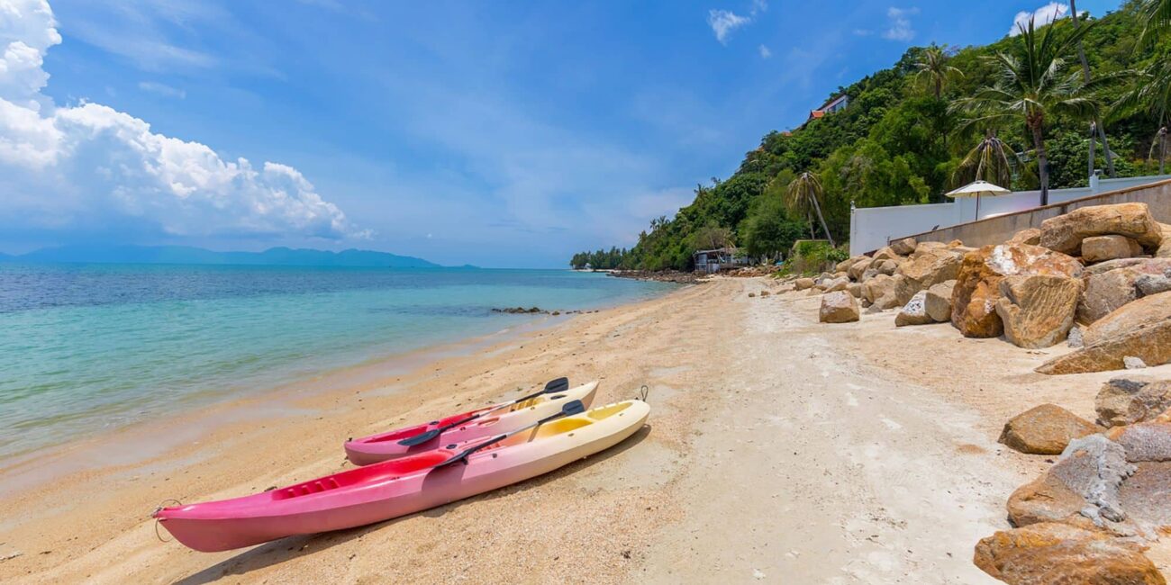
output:
[[[1022,56],[998,53],[988,57],[999,66],[1000,80],[995,85],[985,87],[974,96],[960,99],[958,109],[975,115],[965,124],[997,123],[1023,118],[1033,138],[1033,150],[1041,178],[1041,205],[1049,205],[1049,158],[1045,150],[1045,124],[1053,115],[1090,118],[1097,115],[1097,102],[1089,95],[1091,85],[1105,77],[1086,83],[1080,71],[1066,71],[1064,55],[1070,53],[1093,23],[1080,27],[1069,35],[1062,35],[1061,27],[1049,25],[1036,32],[1034,19],[1028,27],[1020,27]]]

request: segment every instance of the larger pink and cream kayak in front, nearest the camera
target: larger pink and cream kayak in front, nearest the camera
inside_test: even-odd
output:
[[[646,402],[628,400],[520,431],[472,453],[466,464],[434,467],[460,453],[457,446],[251,496],[162,508],[153,516],[180,543],[204,552],[361,526],[552,472],[622,442],[648,414]]]

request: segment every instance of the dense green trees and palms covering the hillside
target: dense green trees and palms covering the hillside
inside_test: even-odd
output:
[[[571,264],[684,270],[694,250],[725,245],[776,257],[799,239],[824,239],[826,229],[847,240],[851,202],[941,202],[978,174],[1013,190],[1039,188],[1046,174],[1039,158],[1048,160],[1049,188],[1084,186],[1095,119],[1117,177],[1157,173],[1166,151],[1166,131],[1158,132],[1167,123],[1171,34],[1144,30],[1167,2],[1130,0],[1102,18],[1083,13],[1080,23],[1067,18],[985,47],[913,47],[890,69],[835,91],[849,96],[844,110],[765,135],[730,178],[698,185],[691,205],[652,220],[631,249],[581,253]],[[1030,80],[1038,68],[1055,75]],[[1101,143],[1095,167],[1107,168]],[[816,192],[796,188],[797,180],[813,180]]]

